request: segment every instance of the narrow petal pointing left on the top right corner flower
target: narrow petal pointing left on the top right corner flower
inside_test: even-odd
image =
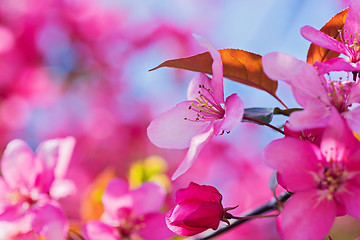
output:
[[[330,50],[333,50],[335,52],[343,53],[347,55],[346,46],[339,42],[338,40],[330,37],[329,35],[326,35],[325,33],[311,27],[311,26],[304,26],[300,30],[301,35],[309,40],[310,42],[320,46],[324,47]]]

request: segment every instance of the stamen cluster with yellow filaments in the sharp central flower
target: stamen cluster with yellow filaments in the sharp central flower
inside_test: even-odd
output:
[[[199,96],[196,97],[197,102],[189,105],[189,110],[196,112],[195,119],[184,118],[188,121],[207,122],[211,120],[221,119],[225,115],[225,110],[216,100],[210,88],[199,85]]]

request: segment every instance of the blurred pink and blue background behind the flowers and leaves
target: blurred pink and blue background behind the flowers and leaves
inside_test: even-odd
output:
[[[148,70],[161,62],[205,51],[192,37],[204,36],[218,49],[264,55],[273,51],[305,60],[310,45],[300,28],[321,28],[346,7],[336,0],[1,0],[0,149],[14,139],[34,149],[43,140],[74,136],[67,177],[77,193],[62,206],[78,228],[101,214],[101,193],[113,177],[135,187],[156,180],[167,187],[171,207],[176,189],[190,181],[216,186],[224,206],[241,214],[271,199],[271,170],[262,148],[281,137],[244,123],[215,138],[193,168],[171,183],[185,155],[155,147],[146,136],[154,116],[185,100],[195,75],[174,69]],[[245,107],[281,107],[267,93],[225,80]],[[297,104],[287,86],[278,96]],[[284,119],[275,118],[280,126]],[[333,239],[360,235],[346,217]],[[339,230],[340,229],[340,230]],[[259,220],[221,239],[278,239],[273,219]]]

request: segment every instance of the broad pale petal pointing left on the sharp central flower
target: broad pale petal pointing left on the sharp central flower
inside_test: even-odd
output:
[[[196,112],[189,109],[192,102],[198,104],[194,101],[181,102],[155,118],[147,128],[150,141],[162,148],[188,148],[191,139],[209,126],[209,122],[195,121]]]

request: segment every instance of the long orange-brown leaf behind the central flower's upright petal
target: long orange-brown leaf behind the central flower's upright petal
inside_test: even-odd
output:
[[[223,62],[224,77],[264,90],[281,102],[275,94],[278,83],[265,75],[261,64],[261,55],[239,49],[222,49],[218,51]],[[213,59],[210,53],[205,52],[187,58],[165,61],[150,71],[161,67],[172,67],[212,74],[212,62]]]

